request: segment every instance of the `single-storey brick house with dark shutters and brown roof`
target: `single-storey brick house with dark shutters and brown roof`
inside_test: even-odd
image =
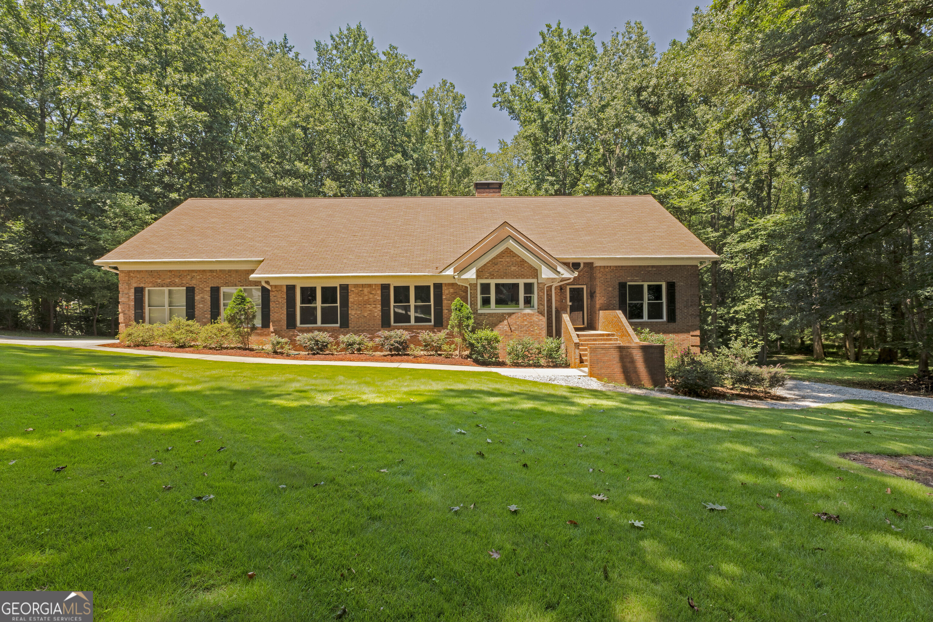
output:
[[[698,343],[699,269],[717,256],[653,197],[475,187],[476,197],[189,199],[94,263],[118,271],[121,329],[222,319],[244,287],[257,338],[439,330],[460,297],[502,335],[503,356],[510,339],[557,336],[575,366],[625,359],[613,353],[622,346],[644,358],[653,351],[633,326]],[[659,383],[656,362],[612,365],[642,369],[604,365],[601,377]]]

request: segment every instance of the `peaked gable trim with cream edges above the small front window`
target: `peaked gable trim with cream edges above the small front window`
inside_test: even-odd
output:
[[[494,228],[440,273],[450,274],[458,279],[476,279],[477,270],[506,249],[533,266],[537,270],[539,280],[562,279],[577,274],[508,222]]]

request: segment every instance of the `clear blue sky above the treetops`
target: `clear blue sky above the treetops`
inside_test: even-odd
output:
[[[202,0],[209,15],[216,14],[232,33],[238,25],[252,28],[266,39],[288,35],[295,48],[313,58],[314,40],[327,39],[346,24],[362,22],[376,45],[393,44],[414,58],[422,69],[416,91],[446,77],[466,95],[461,122],[481,146],[495,150],[517,126],[493,107],[493,83],[511,81],[512,67],[521,64],[538,41],[545,23],[561,21],[578,30],[590,26],[596,39],[609,38],[626,21],[641,21],[659,51],[671,39],[683,40],[696,2],[689,0],[591,0],[522,2],[479,0],[454,3],[442,0]]]

